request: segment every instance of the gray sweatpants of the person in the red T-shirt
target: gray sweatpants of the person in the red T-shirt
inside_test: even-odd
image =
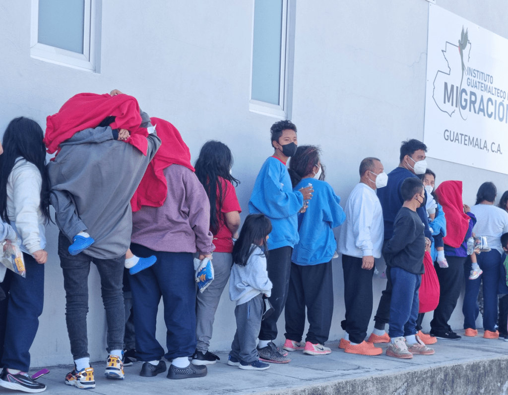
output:
[[[197,349],[205,354],[212,338],[213,320],[220,301],[220,295],[228,283],[233,258],[228,252],[213,253],[214,279],[203,293],[196,296],[196,338]]]

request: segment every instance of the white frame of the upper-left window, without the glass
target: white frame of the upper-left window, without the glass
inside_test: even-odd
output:
[[[39,43],[39,0],[31,0],[30,56],[51,63],[66,65],[75,69],[98,72],[96,62],[98,27],[101,18],[98,15],[98,0],[85,0],[83,53],[68,51]],[[94,17],[92,17],[94,16]]]

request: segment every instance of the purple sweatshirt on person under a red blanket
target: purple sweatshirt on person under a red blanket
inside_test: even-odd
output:
[[[143,206],[132,214],[132,238],[154,251],[213,251],[210,203],[198,177],[179,164],[164,169],[168,196],[162,207]]]

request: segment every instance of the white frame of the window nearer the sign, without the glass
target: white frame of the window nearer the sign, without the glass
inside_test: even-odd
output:
[[[294,0],[282,0],[282,28],[280,43],[280,86],[279,105],[252,99],[252,61],[254,54],[254,3],[252,2],[252,43],[250,61],[249,110],[258,114],[280,119],[291,119],[293,43],[294,43]]]

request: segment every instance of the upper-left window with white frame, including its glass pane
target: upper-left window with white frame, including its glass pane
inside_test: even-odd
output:
[[[32,57],[99,72],[102,0],[31,0]]]

